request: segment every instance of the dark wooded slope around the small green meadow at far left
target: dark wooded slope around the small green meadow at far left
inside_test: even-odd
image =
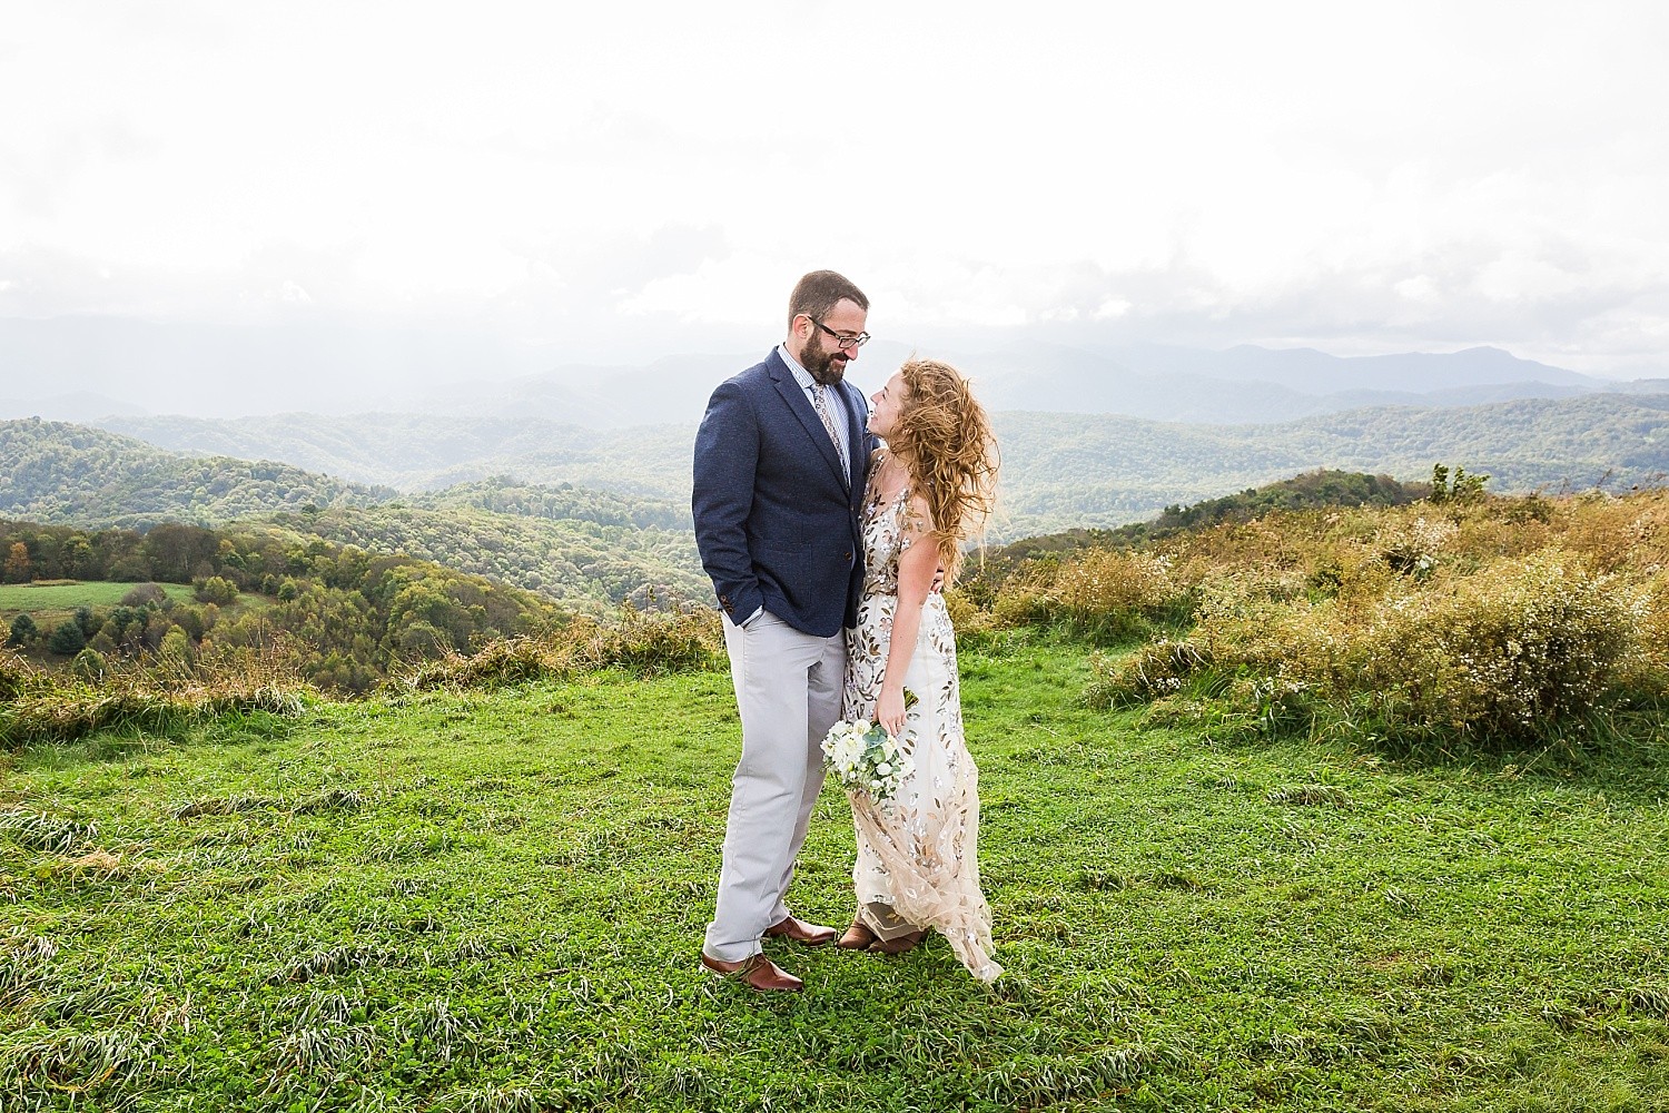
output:
[[[50,661],[87,647],[95,672],[142,652],[182,662],[275,654],[319,686],[364,691],[397,661],[474,651],[566,621],[554,602],[519,587],[270,524],[164,524],[140,534],[0,521],[0,554],[8,582],[135,584],[120,606],[82,606],[50,622],[27,602],[0,612],[13,649]],[[159,581],[194,584],[195,602],[174,602]]]

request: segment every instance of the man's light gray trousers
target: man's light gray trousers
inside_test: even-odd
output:
[[[724,619],[741,761],[731,779],[718,908],[703,951],[726,963],[759,953],[788,916],[783,893],[823,788],[819,743],[840,718],[846,634],[814,637],[769,611],[743,629]]]

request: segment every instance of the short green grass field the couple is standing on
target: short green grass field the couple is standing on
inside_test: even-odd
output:
[[[696,966],[723,672],[93,736],[0,781],[5,1110],[1656,1110],[1661,739],[1395,763],[1082,709],[1090,649],[963,651],[1008,973]],[[851,914],[813,818],[794,911]]]

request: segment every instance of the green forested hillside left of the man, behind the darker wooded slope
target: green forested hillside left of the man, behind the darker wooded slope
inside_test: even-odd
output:
[[[688,502],[504,477],[396,502],[399,492],[387,487],[344,484],[290,466],[187,457],[80,426],[0,422],[0,516],[142,531],[160,521],[259,529],[277,514],[297,537],[491,576],[572,611],[601,612],[628,601],[676,607],[711,596]],[[60,564],[50,542],[47,549],[40,569]],[[82,571],[40,571],[37,577],[103,577],[85,571],[87,561],[70,564]],[[122,559],[110,567],[110,579],[118,581],[182,579]]]

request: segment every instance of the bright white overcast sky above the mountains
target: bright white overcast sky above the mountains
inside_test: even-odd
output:
[[[0,317],[1669,372],[1669,5],[0,0]],[[1035,332],[1041,335],[1041,329]]]

